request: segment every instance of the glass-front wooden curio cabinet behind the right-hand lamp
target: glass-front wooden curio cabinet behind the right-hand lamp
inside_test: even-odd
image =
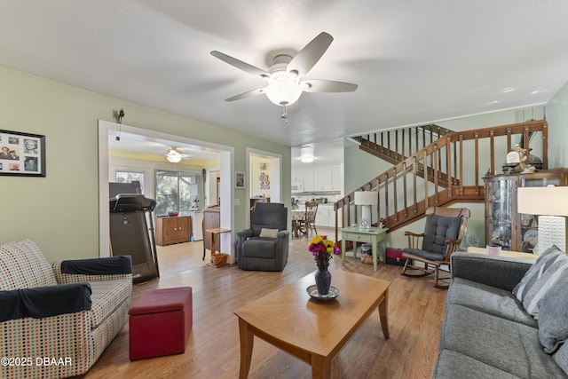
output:
[[[568,170],[485,178],[485,242],[504,250],[533,253],[538,242],[538,216],[518,213],[517,188],[549,185],[568,186]]]

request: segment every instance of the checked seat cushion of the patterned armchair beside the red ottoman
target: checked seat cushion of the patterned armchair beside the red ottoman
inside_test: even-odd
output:
[[[131,296],[128,280],[91,281],[91,328],[97,328]]]

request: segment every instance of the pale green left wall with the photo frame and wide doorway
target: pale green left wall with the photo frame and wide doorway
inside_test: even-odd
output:
[[[234,170],[246,171],[246,148],[282,156],[282,199],[290,199],[290,147],[64,83],[0,67],[0,129],[46,137],[46,178],[0,177],[0,243],[31,238],[48,260],[99,256],[98,121],[234,147]],[[246,224],[244,191],[235,191],[235,230]],[[288,201],[289,202],[289,201]],[[289,208],[289,204],[288,204]]]

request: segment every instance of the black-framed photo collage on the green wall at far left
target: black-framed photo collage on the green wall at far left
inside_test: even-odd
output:
[[[45,136],[0,130],[0,175],[45,178]]]

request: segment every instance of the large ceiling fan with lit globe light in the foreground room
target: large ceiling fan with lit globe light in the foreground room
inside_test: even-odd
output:
[[[225,101],[246,99],[253,96],[265,94],[273,104],[286,107],[295,104],[302,92],[351,92],[357,90],[358,85],[353,83],[336,82],[331,80],[307,79],[303,80],[304,75],[312,69],[318,60],[327,51],[334,38],[326,32],[321,32],[312,41],[304,46],[295,57],[286,53],[276,55],[272,60],[272,67],[268,71],[254,67],[242,60],[233,58],[220,51],[211,51],[211,55],[223,60],[231,66],[237,67],[242,71],[260,76],[268,82],[263,88],[243,92]]]

